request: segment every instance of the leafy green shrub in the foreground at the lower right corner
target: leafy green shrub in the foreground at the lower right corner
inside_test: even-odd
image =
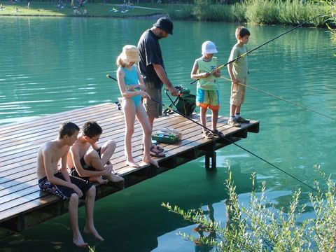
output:
[[[196,246],[215,247],[216,251],[335,251],[335,182],[325,177],[320,167],[315,168],[326,181],[325,192],[316,182],[316,192],[309,193],[308,203],[300,204],[303,195],[299,189],[293,193],[288,207],[281,209],[267,200],[265,182],[262,182],[260,191],[257,190],[255,174],[251,177],[248,206],[241,205],[228,168],[229,176],[225,181],[227,222],[224,227],[204,214],[202,209],[184,211],[169,203],[162,203],[162,206],[198,224],[195,228],[200,234],[198,238],[179,233]],[[311,211],[315,218],[304,219],[302,215],[307,211]],[[204,235],[204,232],[209,235]]]

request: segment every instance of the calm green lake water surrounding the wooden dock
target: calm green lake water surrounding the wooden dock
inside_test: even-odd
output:
[[[123,45],[137,44],[153,20],[106,18],[0,18],[0,124],[80,107],[114,102],[115,74]],[[193,62],[206,40],[216,43],[224,64],[235,44],[235,24],[174,22],[174,36],[161,41],[166,70],[174,85],[195,93],[190,83]],[[248,49],[290,29],[248,26]],[[336,118],[336,58],[324,29],[300,28],[248,55],[249,85]],[[228,77],[226,69],[222,75]],[[222,116],[228,116],[230,83],[219,81]],[[168,103],[167,97],[164,99]],[[335,120],[248,89],[242,116],[260,120],[260,132],[237,144],[260,155],[309,185],[335,171]],[[55,132],[55,135],[57,132]],[[268,200],[285,207],[293,190],[302,188],[302,204],[310,189],[237,146],[217,151],[217,169],[207,172],[199,158],[153,179],[96,202],[95,223],[106,239],[84,235],[96,251],[194,251],[176,232],[193,232],[195,225],[160,207],[162,202],[183,209],[213,209],[225,223],[224,181],[230,166],[241,204],[248,203],[250,176],[266,181]],[[209,212],[209,211],[207,211]],[[85,221],[80,208],[80,227]],[[311,211],[303,218],[314,216]],[[0,251],[83,251],[71,241],[69,216],[64,214],[18,235],[0,240]],[[206,250],[204,250],[206,251]]]

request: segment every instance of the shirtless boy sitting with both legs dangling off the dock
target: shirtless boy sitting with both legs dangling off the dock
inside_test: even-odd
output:
[[[66,122],[59,127],[58,139],[48,141],[38,150],[37,179],[41,190],[57,195],[62,200],[69,200],[69,216],[73,232],[73,244],[87,246],[78,228],[78,200],[85,196],[86,224],[84,232],[104,241],[93,222],[94,199],[96,188],[83,179],[68,174],[66,157],[70,146],[77,140],[79,128],[76,124]],[[60,162],[60,167],[58,164]]]

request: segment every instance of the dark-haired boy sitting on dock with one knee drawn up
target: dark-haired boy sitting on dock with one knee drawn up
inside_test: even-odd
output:
[[[116,150],[116,142],[106,141],[100,148],[97,145],[102,132],[102,127],[98,123],[94,121],[84,123],[76,143],[70,148],[68,167],[73,169],[74,176],[90,182],[123,183],[124,179],[114,174],[110,162],[110,158]]]

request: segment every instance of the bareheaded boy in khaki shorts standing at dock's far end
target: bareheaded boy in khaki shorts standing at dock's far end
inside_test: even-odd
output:
[[[228,62],[237,59],[247,52],[246,44],[250,37],[250,31],[245,27],[236,29],[237,43],[233,46]],[[247,55],[237,59],[235,62],[228,64],[228,71],[231,78],[231,97],[230,97],[230,119],[228,125],[241,127],[241,123],[250,123],[241,117],[241,104],[244,103],[246,85],[248,80]],[[242,84],[242,85],[241,85]]]

